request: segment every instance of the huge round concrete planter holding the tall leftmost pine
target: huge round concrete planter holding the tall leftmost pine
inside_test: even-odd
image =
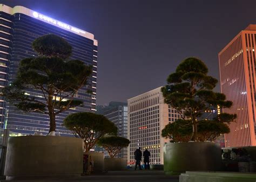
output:
[[[83,140],[59,136],[10,137],[6,179],[79,176],[83,172]]]

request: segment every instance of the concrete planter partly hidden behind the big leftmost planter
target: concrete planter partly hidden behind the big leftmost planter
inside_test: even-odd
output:
[[[93,160],[93,172],[104,171],[104,153],[103,152],[87,152]]]

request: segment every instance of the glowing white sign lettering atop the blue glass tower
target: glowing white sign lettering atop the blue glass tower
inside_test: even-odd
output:
[[[57,21],[56,19],[50,18],[50,17],[42,15],[42,14],[38,14],[38,12],[36,12],[36,11],[33,12],[33,17],[35,17],[37,19],[41,19],[44,22],[59,26],[60,28],[70,30],[70,31],[75,32],[75,33],[83,33],[83,34],[86,33],[83,30],[80,30],[80,29],[75,28],[71,25],[65,24],[63,22]]]

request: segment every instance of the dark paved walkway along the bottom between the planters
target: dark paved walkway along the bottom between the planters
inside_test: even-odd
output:
[[[5,180],[1,180],[5,181]],[[16,181],[16,180],[11,180]],[[9,181],[9,182],[11,182]],[[66,182],[179,182],[178,176],[166,176],[163,171],[111,171],[104,174],[91,174],[88,176],[82,176],[76,179],[42,179],[42,180],[17,180],[19,182],[57,182],[57,181],[66,181]]]

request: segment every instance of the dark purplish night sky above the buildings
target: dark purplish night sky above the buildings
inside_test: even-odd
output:
[[[256,0],[0,0],[22,5],[95,35],[97,104],[166,84],[181,60],[203,60],[219,79],[218,52],[248,24]],[[216,88],[219,91],[219,85]]]

